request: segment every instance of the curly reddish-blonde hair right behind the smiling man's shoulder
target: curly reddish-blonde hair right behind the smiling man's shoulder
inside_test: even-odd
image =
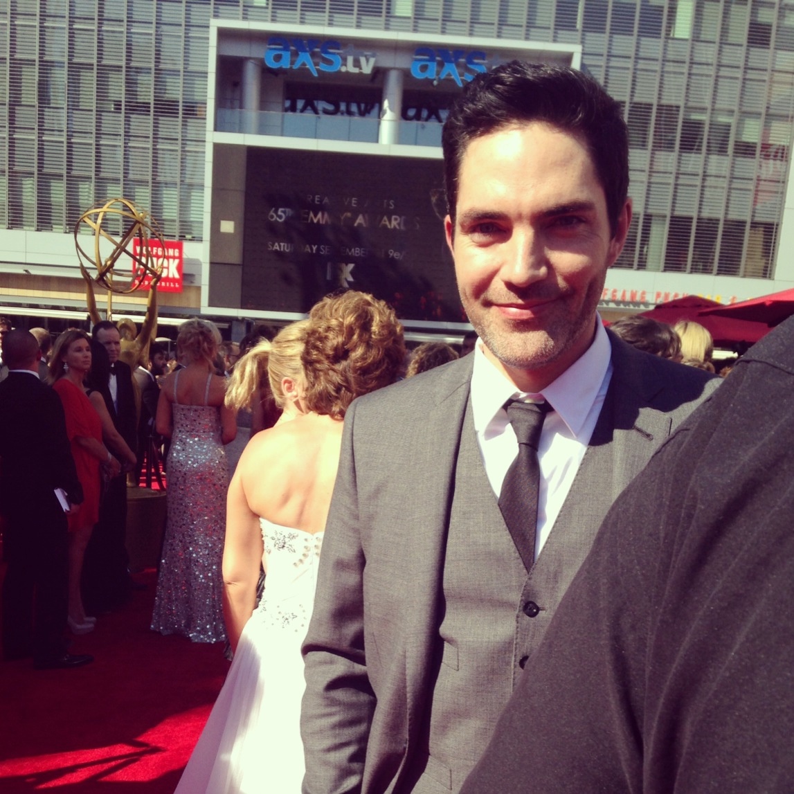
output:
[[[303,347],[308,410],[341,419],[353,399],[393,383],[403,368],[403,326],[366,292],[330,295],[309,313]]]

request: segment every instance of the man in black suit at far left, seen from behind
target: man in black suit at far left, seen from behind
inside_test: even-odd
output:
[[[39,380],[39,345],[25,330],[6,331],[0,383],[0,512],[8,569],[2,588],[6,661],[33,656],[38,669],[86,665],[66,653],[67,521],[56,496],[83,501],[58,395]]]

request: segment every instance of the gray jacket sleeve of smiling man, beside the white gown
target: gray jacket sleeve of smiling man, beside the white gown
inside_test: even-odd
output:
[[[306,694],[301,734],[306,794],[360,792],[375,709],[364,656],[364,552],[353,452],[355,407],[353,403],[345,418],[314,614],[303,645]]]

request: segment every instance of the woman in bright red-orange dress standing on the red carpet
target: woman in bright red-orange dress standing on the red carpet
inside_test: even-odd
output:
[[[66,430],[71,441],[77,476],[83,486],[83,504],[68,517],[69,521],[69,628],[75,634],[93,630],[95,618],[89,618],[80,595],[80,576],[91,531],[99,518],[102,492],[100,466],[110,476],[121,472],[121,464],[102,443],[102,420],[86,395],[83,380],[91,369],[91,341],[84,331],[69,330],[56,339],[49,364],[52,387],[64,403]]]

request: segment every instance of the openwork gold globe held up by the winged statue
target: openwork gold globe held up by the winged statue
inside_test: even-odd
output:
[[[115,239],[105,228],[109,217],[121,218],[121,238]],[[93,252],[89,253],[81,245],[87,241],[85,229],[91,232]],[[165,251],[165,239],[160,226],[147,210],[141,209],[126,198],[111,198],[102,206],[94,206],[84,212],[75,223],[75,247],[80,264],[80,272],[86,281],[95,281],[106,287],[110,292],[126,295],[141,287],[147,276],[152,277],[152,287],[156,287],[163,275],[163,256],[152,256],[149,241],[157,241],[160,250]],[[133,241],[138,240],[137,249]],[[110,254],[102,256],[99,246],[102,241],[110,243]],[[119,257],[129,256],[132,268],[128,279],[121,282],[114,280],[114,273]],[[89,268],[96,268],[97,275],[91,276]],[[125,268],[126,269],[126,268]],[[110,299],[110,296],[109,296]]]

